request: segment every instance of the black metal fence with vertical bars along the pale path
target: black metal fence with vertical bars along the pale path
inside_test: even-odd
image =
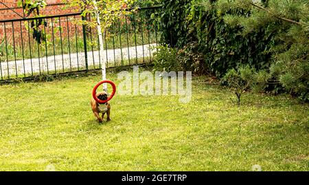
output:
[[[91,16],[0,21],[0,82],[100,69],[102,62],[107,68],[151,62],[160,39],[153,14],[159,8],[140,8],[115,21],[105,34],[104,53],[97,29],[76,23]],[[32,29],[34,24],[39,26]]]

